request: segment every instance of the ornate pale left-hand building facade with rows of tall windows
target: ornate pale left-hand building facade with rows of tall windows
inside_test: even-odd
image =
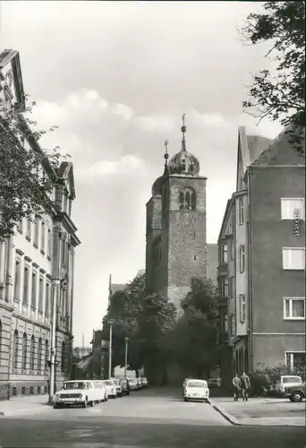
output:
[[[23,101],[19,54],[0,54],[0,94],[10,107]],[[55,387],[70,375],[73,272],[80,244],[72,222],[75,199],[72,163],[57,172],[29,134],[24,147],[41,158],[38,176],[52,176],[53,211],[22,219],[13,237],[0,243],[0,398],[48,390],[53,301],[56,300]],[[59,286],[54,279],[60,280]]]

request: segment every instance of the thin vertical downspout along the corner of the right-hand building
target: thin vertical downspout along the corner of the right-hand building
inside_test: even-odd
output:
[[[251,168],[248,168],[248,358],[249,373],[253,373],[253,297],[252,297],[252,271],[251,271]]]

